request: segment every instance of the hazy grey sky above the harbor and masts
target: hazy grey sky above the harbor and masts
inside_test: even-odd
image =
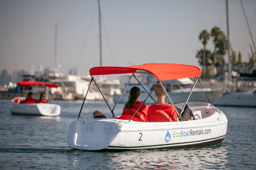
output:
[[[242,2],[255,40],[256,1]],[[225,0],[101,0],[100,5],[103,66],[199,66],[199,33],[217,26],[227,35]],[[64,74],[77,67],[78,75],[86,75],[99,66],[97,0],[0,0],[0,71],[29,71],[30,63],[36,70],[53,67],[55,23],[57,64]],[[229,0],[229,25],[232,48],[248,61],[252,41],[240,0]],[[213,51],[212,38],[206,48]]]

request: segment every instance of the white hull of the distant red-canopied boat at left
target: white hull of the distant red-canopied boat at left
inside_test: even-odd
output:
[[[18,115],[59,116],[60,105],[51,103],[24,104],[11,102],[10,112]]]

